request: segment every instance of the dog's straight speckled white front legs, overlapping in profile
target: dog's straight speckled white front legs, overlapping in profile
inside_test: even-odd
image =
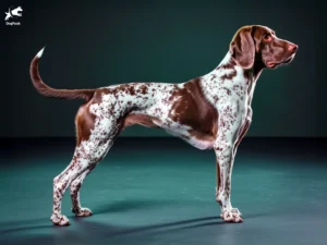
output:
[[[242,124],[242,113],[237,103],[225,105],[219,110],[216,152],[217,186],[216,200],[221,207],[221,218],[227,222],[242,222],[241,212],[232,208],[231,174],[234,161],[235,143]]]

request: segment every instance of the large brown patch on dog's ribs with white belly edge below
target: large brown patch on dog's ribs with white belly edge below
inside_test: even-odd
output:
[[[211,148],[217,134],[218,113],[206,100],[201,79],[185,83],[172,93],[171,98],[173,102],[160,126],[196,148]]]

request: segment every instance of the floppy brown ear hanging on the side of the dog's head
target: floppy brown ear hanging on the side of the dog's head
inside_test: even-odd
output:
[[[252,26],[242,27],[230,44],[232,58],[243,69],[251,69],[254,64],[255,47],[251,32]]]

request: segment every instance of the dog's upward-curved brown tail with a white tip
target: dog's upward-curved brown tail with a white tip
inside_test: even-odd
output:
[[[56,89],[46,85],[39,76],[38,62],[44,53],[43,48],[31,62],[29,74],[36,90],[46,97],[58,99],[84,99],[90,100],[96,89]]]

